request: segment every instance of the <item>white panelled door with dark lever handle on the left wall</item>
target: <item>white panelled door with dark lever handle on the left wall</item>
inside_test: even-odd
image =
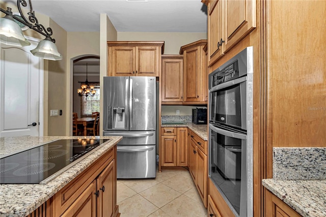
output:
[[[43,135],[43,60],[32,55],[37,42],[30,42],[25,47],[1,44],[0,137]]]

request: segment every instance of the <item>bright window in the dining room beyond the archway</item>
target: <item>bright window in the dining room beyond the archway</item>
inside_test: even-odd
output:
[[[80,101],[81,106],[81,117],[92,116],[92,112],[100,112],[100,87],[95,86],[95,96],[82,96]]]

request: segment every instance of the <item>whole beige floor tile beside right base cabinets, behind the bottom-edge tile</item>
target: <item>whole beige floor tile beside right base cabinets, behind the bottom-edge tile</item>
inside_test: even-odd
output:
[[[195,186],[195,184],[190,176],[186,177],[183,175],[174,176],[174,177],[162,182],[162,184],[165,184],[168,187],[173,188],[175,191],[180,192],[181,194],[189,191],[190,188]]]

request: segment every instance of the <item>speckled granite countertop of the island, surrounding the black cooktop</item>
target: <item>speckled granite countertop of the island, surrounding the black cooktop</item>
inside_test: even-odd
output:
[[[0,157],[30,149],[59,139],[78,137],[8,137],[0,138]],[[92,137],[87,137],[92,138]],[[112,139],[47,184],[0,184],[0,216],[26,216],[60,191],[67,183],[82,173],[122,137],[96,137]]]

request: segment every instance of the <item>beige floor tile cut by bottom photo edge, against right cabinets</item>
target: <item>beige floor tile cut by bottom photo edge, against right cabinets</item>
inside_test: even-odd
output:
[[[206,216],[207,210],[202,203],[198,203],[187,196],[181,195],[161,208],[170,216],[196,217]]]

